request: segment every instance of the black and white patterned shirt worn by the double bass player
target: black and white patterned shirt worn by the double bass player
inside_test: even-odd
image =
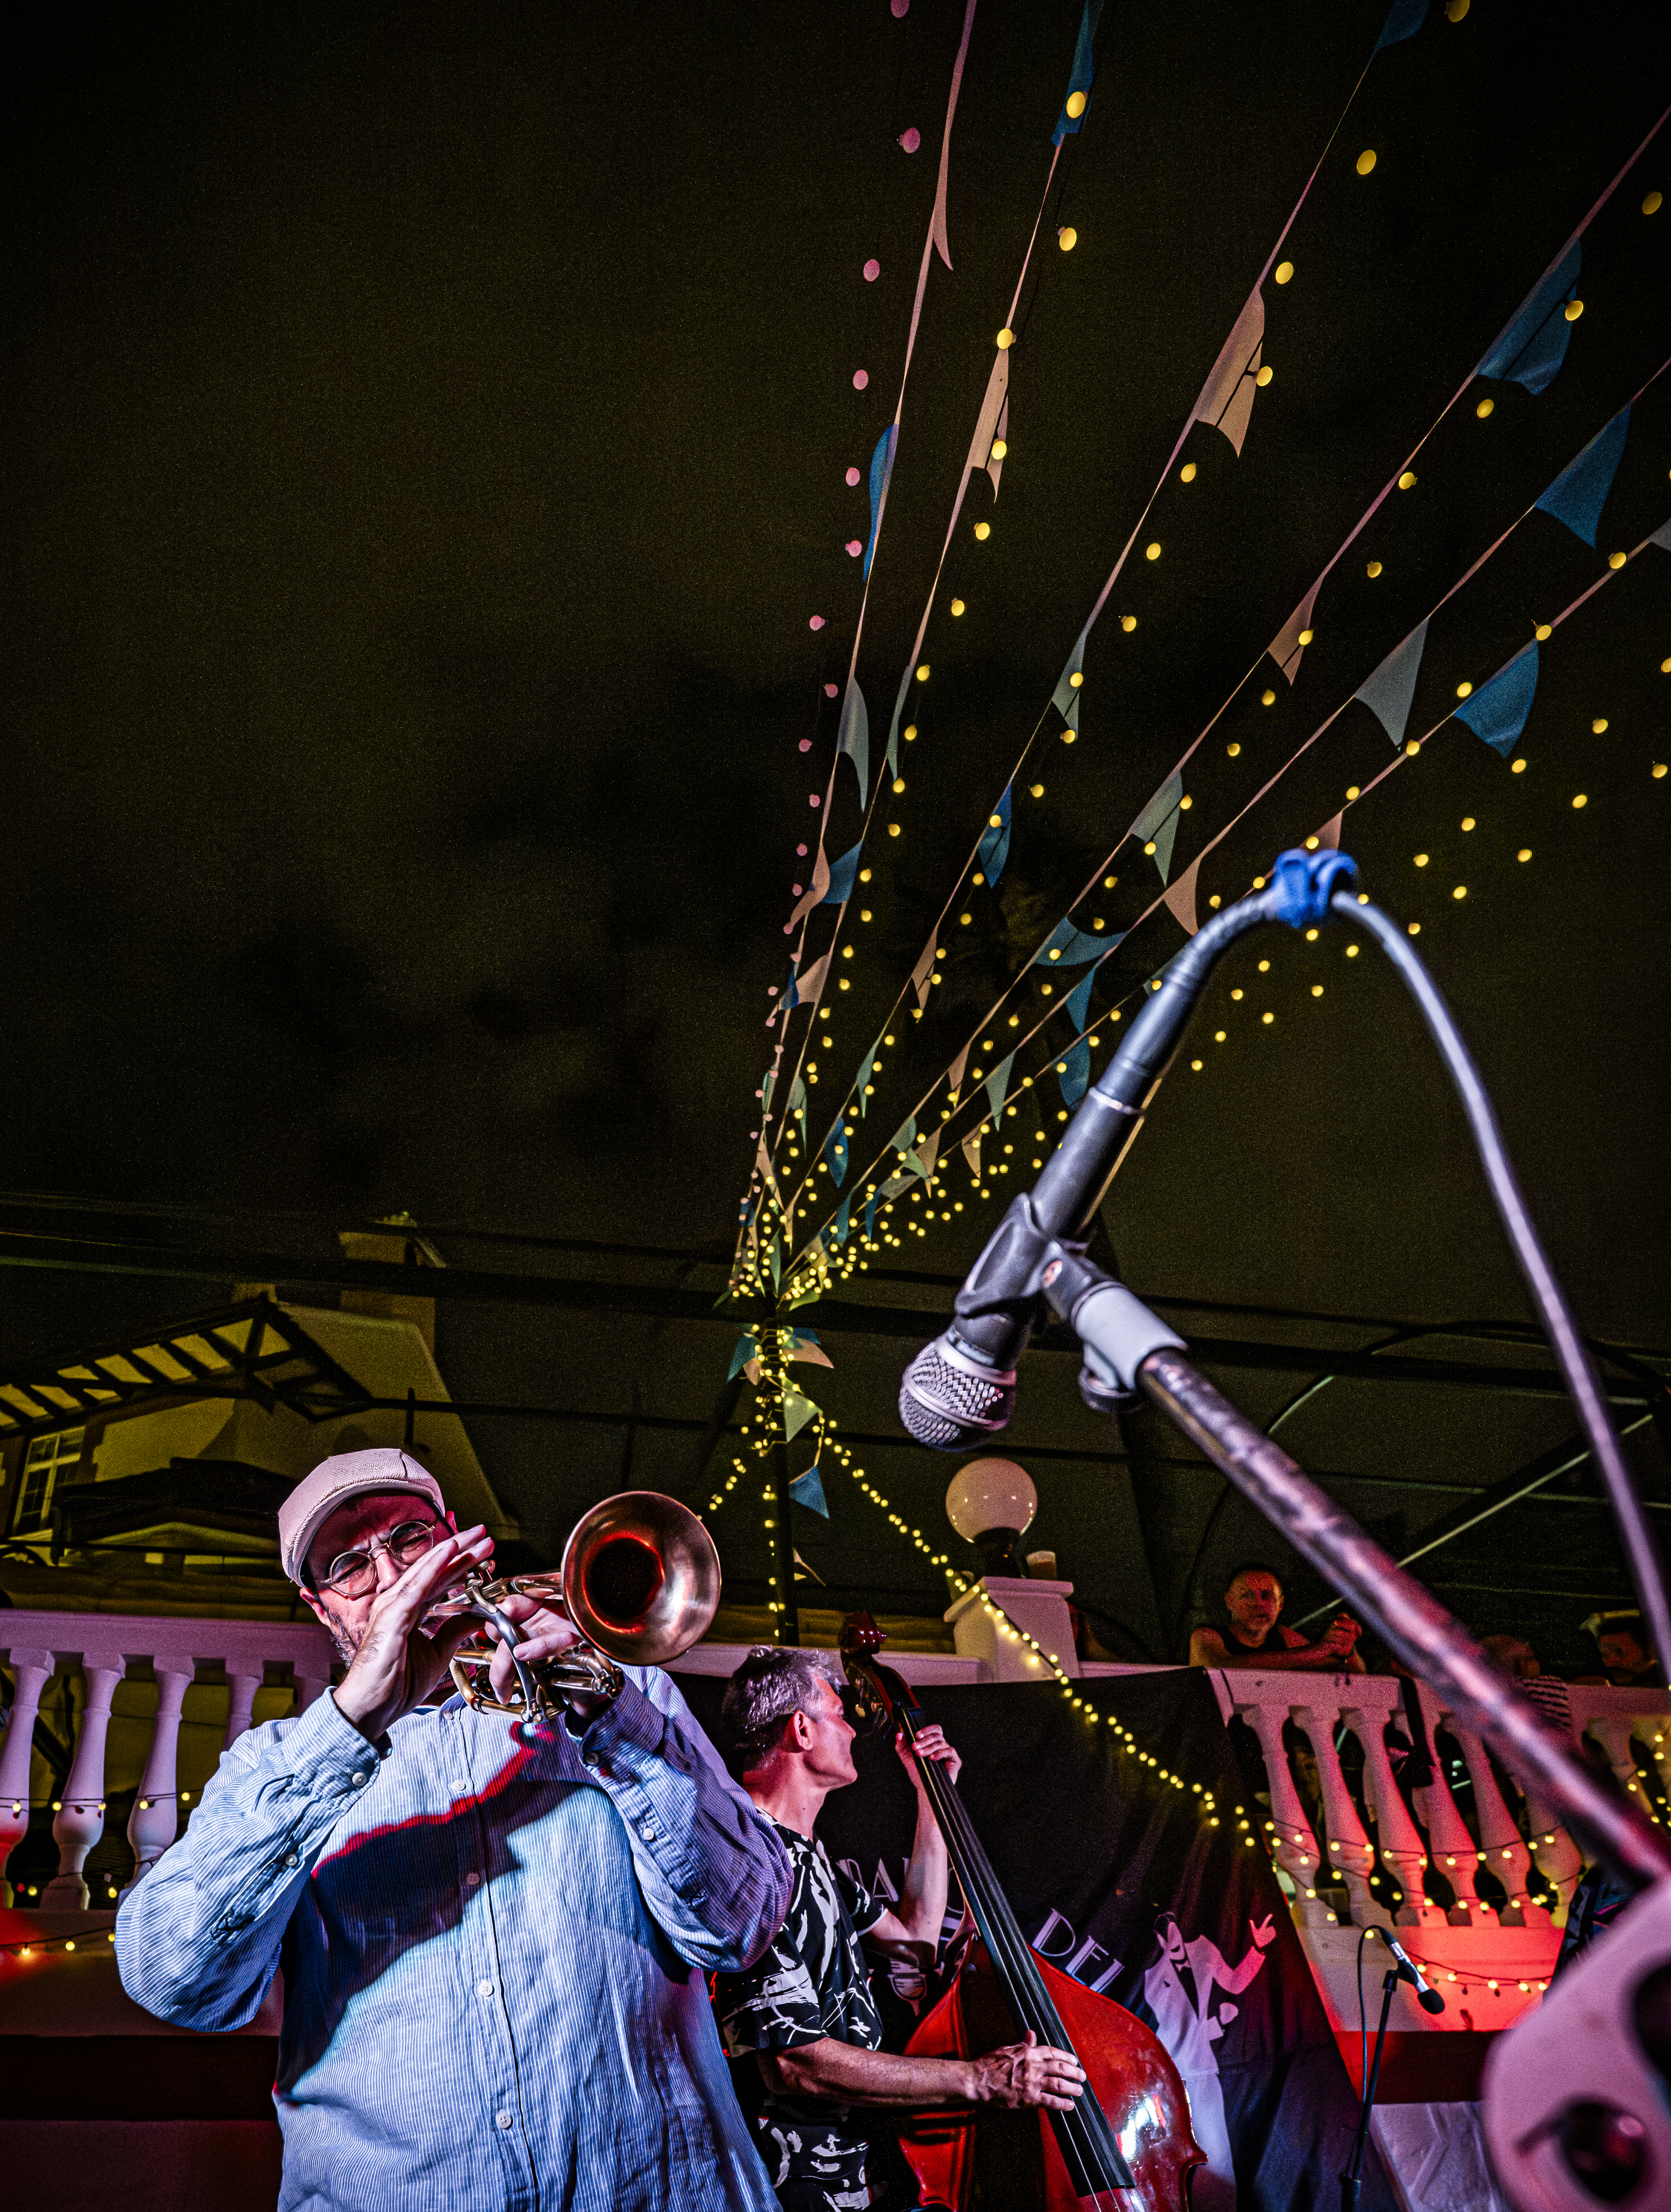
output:
[[[794,1869],[789,1911],[765,1958],[747,1973],[723,1973],[714,1986],[725,2048],[732,2057],[794,2051],[831,2037],[882,2046],[882,2015],[860,1936],[886,1911],[880,1898],[831,1867],[822,1843],[774,1820]],[[758,2068],[738,2068],[743,2108],[771,2185],[818,2183],[831,2205],[864,2205],[864,2132],[853,2108],[829,2097],[782,2097],[752,2084]]]

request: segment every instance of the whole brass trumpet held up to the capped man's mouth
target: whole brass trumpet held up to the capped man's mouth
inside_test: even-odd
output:
[[[513,1593],[568,1615],[586,1641],[528,1666],[517,1657],[522,1630],[502,1610]],[[665,1666],[701,1644],[718,1595],[714,1537],[690,1506],[661,1491],[619,1491],[575,1522],[555,1575],[466,1575],[446,1593],[444,1606],[493,1624],[517,1670],[513,1701],[493,1697],[493,1644],[473,1637],[453,1655],[453,1683],[475,1712],[550,1721],[572,1697],[614,1697],[621,1663]]]

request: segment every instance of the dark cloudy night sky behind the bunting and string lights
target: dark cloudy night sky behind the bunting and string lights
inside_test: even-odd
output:
[[[877,772],[1079,18],[1079,0],[977,9],[953,268],[928,279],[860,655]],[[1384,0],[1105,7],[1015,319],[1001,491],[970,487],[906,792],[866,845],[875,920],[818,1060],[824,1095],[957,885],[1381,18]],[[869,471],[897,398],[959,29],[953,0],[902,18],[778,0],[31,27],[7,91],[9,1190],[159,1219],[217,1208],[250,1234],[409,1208],[729,1250],[767,993],[809,880],[796,845],[836,741],[827,686],[860,606],[844,544],[866,538],[869,502],[844,471]],[[1174,874],[1671,354],[1671,208],[1642,215],[1671,188],[1669,126],[1585,237],[1585,312],[1547,392],[1474,385],[1324,586],[1297,684],[1255,666],[1653,126],[1669,44],[1671,20],[1638,0],[1472,0],[1454,22],[1434,4],[1368,69],[1284,246],[1295,276],[1264,285],[1275,376],[1242,456],[1191,431],[1198,473],[1174,469],[1092,633],[1081,739],[1063,750],[1048,721],[1045,794],[1017,785],[1003,894],[953,931],[869,1135],[893,1130],[1231,695],[1185,779]],[[1596,551],[1534,513],[1434,617],[1412,734],[1667,520],[1667,387],[1633,407]],[[1647,1347],[1667,1343],[1671,1265],[1667,655],[1671,553],[1649,549],[1545,648],[1523,774],[1452,721],[1344,834],[1366,887],[1423,922],[1585,1325]],[[1390,757],[1348,706],[1216,849],[1202,898],[1238,896]],[[858,825],[842,770],[833,854]],[[1114,872],[1081,927],[1125,929],[1160,887],[1129,843]],[[1145,922],[1099,1009],[1180,942],[1165,911]],[[1023,998],[1037,1006],[1032,984]],[[961,1166],[955,1181],[961,1197]],[[955,1276],[995,1217],[970,1203],[897,1259]],[[1105,1221],[1154,1294],[1527,1316],[1401,987],[1370,949],[1348,964],[1337,931],[1227,962]],[[0,1356],[181,1298],[214,1303],[0,1270]],[[458,1396],[637,1394],[705,1416],[732,1340],[446,1305],[440,1358]],[[824,1402],[889,1427],[902,1347],[829,1343]],[[1028,1436],[1107,1447],[1070,1363],[1045,1360],[1017,1455]],[[1300,1380],[1236,1391],[1269,1418]],[[1496,1480],[1567,1433],[1547,1402],[1339,1387],[1284,1440],[1324,1471]],[[619,1473],[619,1433],[484,1425],[475,1442],[546,1544]],[[634,1478],[701,1502],[690,1440],[656,1451]],[[871,1464],[944,1526],[948,1464]],[[1664,1491],[1653,1447],[1640,1464]],[[1233,1509],[1196,1559],[1218,1489],[1202,1473],[1158,1473],[1147,1500],[1107,1469],[1034,1473],[1039,1542],[1156,1652],[1220,1551],[1269,1548]],[[915,1555],[840,1482],[829,1526],[802,1540],[798,1522],[807,1555],[842,1586],[922,1584],[937,1610]],[[1454,1504],[1351,1495],[1395,1542]],[[752,1511],[727,1513],[743,1590],[765,1553]],[[1578,1657],[1576,1595],[1622,1590],[1605,1517],[1580,1504],[1505,1515],[1485,1551],[1448,1557],[1472,1562],[1459,1610],[1547,1624],[1554,1661]],[[1576,1595],[1538,1608],[1516,1586]]]

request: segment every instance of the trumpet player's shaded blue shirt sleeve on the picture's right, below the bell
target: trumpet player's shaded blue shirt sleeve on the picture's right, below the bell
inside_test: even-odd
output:
[[[637,1670],[634,1670],[637,1672]],[[705,1743],[676,1683],[628,1677],[577,1739],[614,1801],[645,1902],[681,1958],[738,1973],[789,1909],[789,1854]]]

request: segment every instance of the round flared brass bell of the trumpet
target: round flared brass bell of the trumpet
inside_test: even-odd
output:
[[[623,1666],[665,1666],[701,1644],[718,1610],[714,1537],[661,1491],[619,1491],[564,1546],[564,1610]]]

